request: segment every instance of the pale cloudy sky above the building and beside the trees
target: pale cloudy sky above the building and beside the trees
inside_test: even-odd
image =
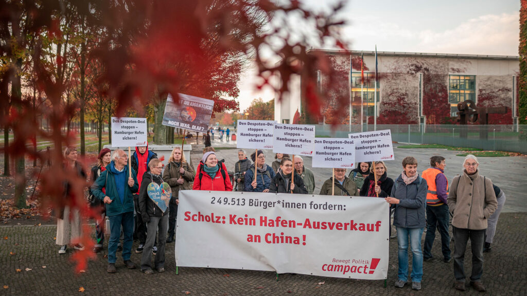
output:
[[[328,9],[334,0],[301,0],[314,9]],[[518,55],[520,1],[349,1],[341,17],[345,38],[354,51]],[[240,111],[254,98],[252,72],[239,83]]]

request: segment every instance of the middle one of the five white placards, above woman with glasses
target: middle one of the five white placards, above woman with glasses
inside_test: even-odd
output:
[[[312,156],[314,149],[314,125],[275,123],[272,152]]]

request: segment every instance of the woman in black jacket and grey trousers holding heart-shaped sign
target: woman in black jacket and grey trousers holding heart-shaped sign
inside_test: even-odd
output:
[[[156,231],[159,231],[158,237],[158,251],[155,253],[154,267],[158,272],[164,271],[164,247],[167,240],[168,219],[170,209],[167,207],[165,211],[161,211],[158,205],[148,196],[148,187],[151,183],[161,185],[161,170],[163,164],[159,159],[152,159],[148,163],[150,171],[143,174],[141,181],[141,188],[139,189],[139,208],[141,209],[141,216],[143,222],[147,223],[147,241],[144,244],[143,254],[141,255],[141,271],[146,274],[154,273],[152,270],[152,258],[150,253],[154,246]]]

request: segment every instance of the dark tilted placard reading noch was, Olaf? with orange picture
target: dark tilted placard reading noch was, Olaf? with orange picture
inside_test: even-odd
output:
[[[178,95],[179,105],[174,102],[171,94],[168,95],[162,124],[206,133],[209,128],[214,101],[186,94]]]

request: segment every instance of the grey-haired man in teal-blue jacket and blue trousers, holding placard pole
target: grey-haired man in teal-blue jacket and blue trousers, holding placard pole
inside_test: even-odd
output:
[[[115,273],[115,253],[121,225],[123,227],[123,260],[124,265],[129,269],[134,269],[135,264],[130,261],[132,253],[133,236],[133,192],[137,192],[139,185],[135,171],[129,175],[128,155],[121,150],[112,153],[112,161],[106,170],[101,173],[99,178],[92,185],[92,192],[95,198],[103,201],[106,205],[106,216],[110,219],[110,241],[108,242],[108,272]],[[106,188],[106,194],[101,189]]]

